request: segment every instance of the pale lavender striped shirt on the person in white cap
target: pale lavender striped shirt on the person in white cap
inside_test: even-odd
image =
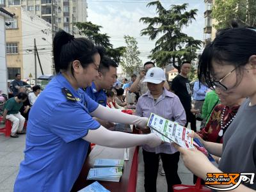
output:
[[[168,120],[177,122],[180,125],[186,124],[186,113],[177,95],[168,92],[165,88],[163,94],[155,100],[150,91],[140,97],[136,106],[136,115],[150,117],[151,113],[163,116]],[[156,154],[174,154],[176,148],[170,143],[163,143],[156,148],[143,145],[143,149],[148,152],[156,152]]]

